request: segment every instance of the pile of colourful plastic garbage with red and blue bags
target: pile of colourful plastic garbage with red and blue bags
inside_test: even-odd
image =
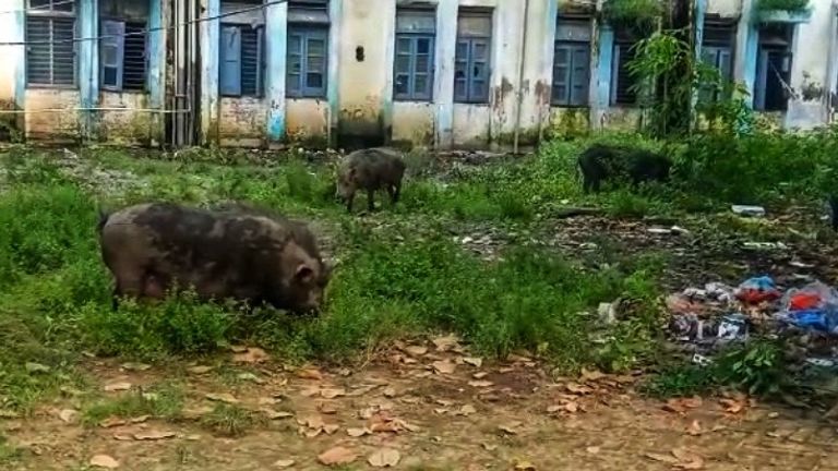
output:
[[[838,346],[838,291],[821,281],[790,289],[778,287],[768,276],[750,278],[735,288],[711,282],[669,295],[667,307],[672,339],[692,346],[696,353],[747,341],[753,334],[798,335],[827,340],[810,341],[813,346]],[[834,352],[829,357],[835,358]]]

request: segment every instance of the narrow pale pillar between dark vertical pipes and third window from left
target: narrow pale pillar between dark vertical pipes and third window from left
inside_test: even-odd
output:
[[[204,16],[217,16],[220,0],[201,0]],[[220,23],[201,23],[201,143],[218,141],[218,60]],[[270,76],[270,74],[268,74]]]

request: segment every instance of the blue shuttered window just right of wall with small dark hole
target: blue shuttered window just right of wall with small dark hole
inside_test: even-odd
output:
[[[436,17],[433,10],[396,10],[393,85],[396,99],[431,101],[435,34]]]

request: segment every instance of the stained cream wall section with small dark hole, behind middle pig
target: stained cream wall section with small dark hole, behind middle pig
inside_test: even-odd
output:
[[[393,111],[395,0],[343,3],[338,143],[384,141]]]

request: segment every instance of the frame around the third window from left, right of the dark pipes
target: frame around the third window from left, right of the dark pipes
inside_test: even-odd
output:
[[[243,29],[251,28],[256,34],[256,77],[255,77],[255,90],[253,93],[246,92],[243,88],[244,80],[244,44],[243,44]],[[228,60],[225,57],[225,48],[223,47],[225,35],[227,31],[235,31],[238,36],[238,51],[236,62],[236,80],[232,83],[228,83],[225,80],[224,71],[225,63],[232,60]],[[263,98],[265,95],[265,26],[262,24],[252,26],[242,23],[222,23],[219,25],[218,34],[218,95],[226,98]],[[229,88],[228,87],[229,84]]]

